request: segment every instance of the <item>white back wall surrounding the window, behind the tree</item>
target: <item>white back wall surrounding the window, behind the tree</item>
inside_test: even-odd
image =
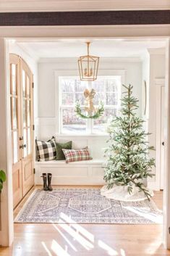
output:
[[[77,59],[41,59],[38,63],[38,139],[48,139],[56,135],[56,116],[55,96],[55,71],[77,70]],[[140,59],[118,59],[101,58],[98,75],[100,70],[124,70],[125,84],[131,83],[134,86],[133,93],[140,100],[139,114],[141,114],[141,84],[142,84],[142,64]],[[111,72],[111,71],[110,71]]]

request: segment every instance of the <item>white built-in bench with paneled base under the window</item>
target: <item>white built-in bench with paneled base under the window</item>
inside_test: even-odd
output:
[[[42,173],[52,173],[52,185],[104,185],[103,160],[81,162],[35,162],[35,185],[43,184]]]

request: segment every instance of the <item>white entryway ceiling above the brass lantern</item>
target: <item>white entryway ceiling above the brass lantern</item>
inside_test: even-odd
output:
[[[19,39],[12,40],[35,59],[79,57],[87,54],[86,41],[90,41],[90,54],[99,57],[143,57],[147,49],[163,49],[162,38],[107,38],[107,39]]]

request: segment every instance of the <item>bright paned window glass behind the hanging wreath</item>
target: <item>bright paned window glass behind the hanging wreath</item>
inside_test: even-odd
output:
[[[85,120],[75,114],[75,103],[80,101],[85,107],[85,88],[95,89],[94,104],[104,103],[105,112],[97,120]],[[103,134],[111,117],[118,115],[121,96],[121,76],[99,76],[93,82],[80,81],[77,77],[59,77],[59,108],[61,133]]]

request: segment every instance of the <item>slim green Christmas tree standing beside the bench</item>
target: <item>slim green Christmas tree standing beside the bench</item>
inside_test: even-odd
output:
[[[148,146],[147,136],[143,129],[144,120],[137,117],[138,100],[132,96],[133,86],[124,86],[125,96],[122,99],[121,115],[111,120],[109,125],[109,148],[105,167],[104,180],[107,189],[113,186],[127,186],[129,194],[134,187],[150,198],[150,192],[144,186],[144,179],[152,177],[151,168],[155,160],[149,158],[148,151],[154,149]]]

